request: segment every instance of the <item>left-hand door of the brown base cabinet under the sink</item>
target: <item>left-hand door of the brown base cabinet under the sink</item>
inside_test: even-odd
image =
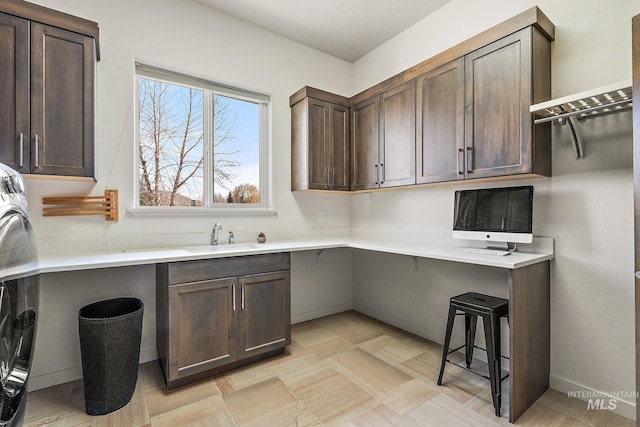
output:
[[[169,286],[169,375],[188,377],[237,358],[236,278]]]

